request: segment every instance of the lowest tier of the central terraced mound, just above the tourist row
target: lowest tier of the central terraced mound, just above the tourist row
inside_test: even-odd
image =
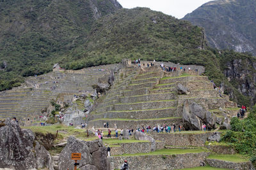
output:
[[[159,119],[141,119],[141,120],[131,120],[131,119],[96,119],[88,122],[88,127],[101,128],[104,127],[104,123],[109,123],[109,128],[118,129],[136,129],[138,127],[146,127],[150,125],[150,127],[154,127],[154,125],[171,125],[171,124],[182,124],[182,118],[159,118]],[[114,134],[114,133],[113,133]]]

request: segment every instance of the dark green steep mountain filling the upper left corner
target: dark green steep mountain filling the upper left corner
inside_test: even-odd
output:
[[[116,0],[0,1],[0,90],[51,71],[86,41],[95,20],[120,8]]]

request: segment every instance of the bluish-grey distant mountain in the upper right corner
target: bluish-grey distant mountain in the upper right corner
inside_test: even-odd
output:
[[[256,55],[256,1],[210,1],[183,20],[204,27],[209,45]]]

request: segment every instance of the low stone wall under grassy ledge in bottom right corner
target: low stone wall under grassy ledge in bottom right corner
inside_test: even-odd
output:
[[[252,162],[228,162],[225,160],[217,160],[217,159],[206,159],[206,162],[212,167],[220,167],[220,168],[227,168],[227,169],[236,169],[236,170],[244,170],[250,169],[255,170],[252,165]]]

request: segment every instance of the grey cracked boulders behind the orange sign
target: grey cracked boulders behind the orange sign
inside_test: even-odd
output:
[[[71,153],[81,153],[81,160],[78,160],[81,170],[108,170],[107,148],[103,146],[102,141],[81,141],[74,136],[70,136],[67,145],[60,153],[59,169],[73,169],[74,160],[70,159]]]

